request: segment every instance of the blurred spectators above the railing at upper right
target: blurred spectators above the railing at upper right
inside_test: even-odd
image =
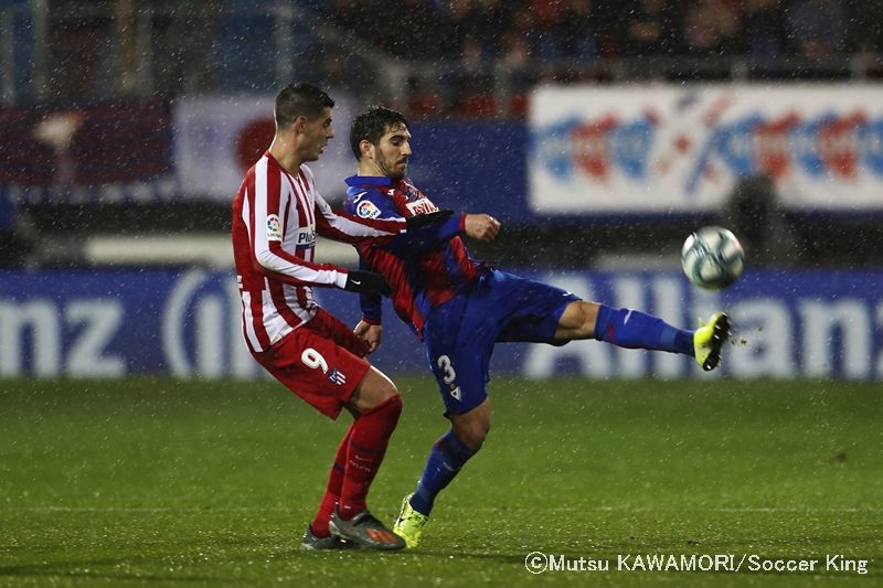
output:
[[[880,0],[327,0],[329,20],[406,60],[877,52]]]

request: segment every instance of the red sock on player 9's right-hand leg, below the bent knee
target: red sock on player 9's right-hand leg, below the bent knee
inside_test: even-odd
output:
[[[344,521],[366,509],[368,489],[380,469],[401,414],[402,397],[396,394],[353,423],[343,487],[338,501],[338,513]]]

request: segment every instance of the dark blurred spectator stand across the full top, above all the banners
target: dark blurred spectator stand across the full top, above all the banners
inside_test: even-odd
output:
[[[417,116],[518,116],[524,94],[542,82],[726,79],[733,77],[734,58],[770,64],[749,72],[751,78],[808,77],[810,70],[815,77],[837,77],[837,67],[825,67],[838,63],[850,77],[857,57],[870,75],[883,72],[883,0],[53,0],[38,6],[49,23],[43,40],[33,39],[38,28],[28,21],[30,9],[21,18],[0,18],[0,23],[21,21],[9,29],[13,43],[4,45],[6,53],[0,47],[0,62],[17,64],[6,84],[18,85],[19,103],[272,92],[299,77],[371,99],[404,95],[408,103],[400,106]],[[673,65],[635,68],[653,58]],[[391,60],[404,72],[401,78],[391,76]],[[811,66],[799,72],[807,63]],[[23,64],[43,64],[46,71],[38,75]],[[623,64],[632,70],[624,73]],[[45,90],[33,79],[43,79]],[[511,104],[500,105],[501,96]]]

